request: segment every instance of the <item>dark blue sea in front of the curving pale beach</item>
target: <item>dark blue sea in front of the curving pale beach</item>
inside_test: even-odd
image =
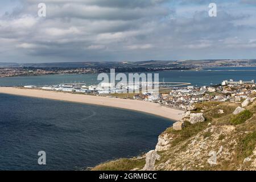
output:
[[[155,147],[172,122],[129,110],[0,94],[0,170],[76,170]],[[38,165],[38,151],[47,165]]]

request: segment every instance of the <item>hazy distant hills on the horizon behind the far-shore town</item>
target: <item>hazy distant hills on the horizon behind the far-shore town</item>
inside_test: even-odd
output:
[[[201,68],[220,66],[256,66],[256,60],[150,60],[150,61],[85,61],[69,63],[0,63],[0,67],[31,68]]]

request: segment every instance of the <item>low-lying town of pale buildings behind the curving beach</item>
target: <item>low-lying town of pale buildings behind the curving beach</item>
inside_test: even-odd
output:
[[[180,110],[189,110],[194,104],[205,101],[242,101],[256,94],[254,80],[234,81],[224,80],[219,85],[211,86],[181,86],[164,88],[160,84],[159,93],[143,92],[142,84],[135,84],[133,90],[129,86],[102,83],[86,86],[84,83],[59,84],[51,86],[26,85],[27,89],[55,90],[77,94],[89,94],[94,96],[118,97],[123,99],[142,100],[155,102],[160,105]],[[114,90],[110,90],[113,88]],[[133,93],[131,93],[132,91]],[[135,93],[135,91],[138,91]]]

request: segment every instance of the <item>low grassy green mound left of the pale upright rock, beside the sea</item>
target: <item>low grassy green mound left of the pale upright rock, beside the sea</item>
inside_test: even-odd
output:
[[[92,171],[130,171],[134,168],[143,168],[145,159],[118,159],[110,162],[99,164]]]

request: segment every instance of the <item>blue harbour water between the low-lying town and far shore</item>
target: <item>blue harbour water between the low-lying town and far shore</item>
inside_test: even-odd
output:
[[[220,84],[223,80],[256,80],[256,67],[206,68],[203,71],[166,71],[159,73],[160,81],[189,82],[192,85]],[[97,74],[46,75],[0,78],[0,86],[55,85],[69,82],[98,84]]]

